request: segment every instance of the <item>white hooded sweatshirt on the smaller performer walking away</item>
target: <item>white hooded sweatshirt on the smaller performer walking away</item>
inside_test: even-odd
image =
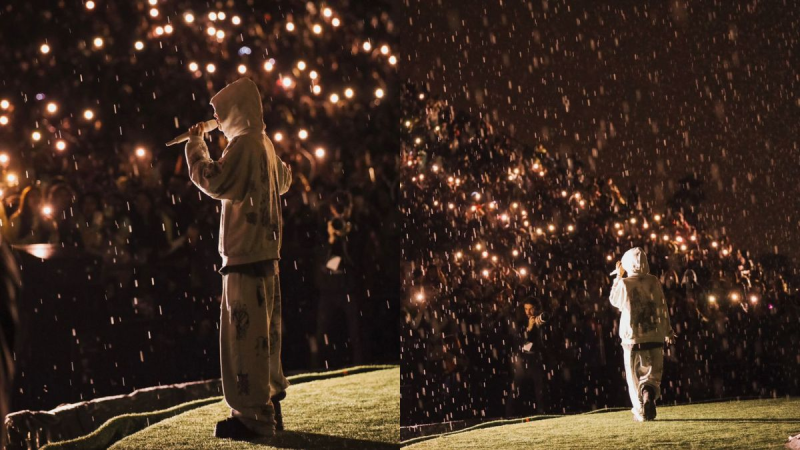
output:
[[[622,344],[663,343],[672,334],[672,326],[661,282],[650,275],[647,254],[639,247],[628,250],[622,257],[622,267],[628,276],[617,276],[609,296],[611,304],[622,311]]]

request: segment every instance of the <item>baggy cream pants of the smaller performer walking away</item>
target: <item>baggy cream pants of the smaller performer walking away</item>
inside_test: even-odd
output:
[[[642,388],[653,386],[656,399],[661,398],[661,374],[664,372],[664,348],[633,350],[631,345],[623,345],[625,358],[625,378],[628,381],[628,395],[631,397],[635,416],[643,414]],[[655,399],[654,399],[655,400]]]

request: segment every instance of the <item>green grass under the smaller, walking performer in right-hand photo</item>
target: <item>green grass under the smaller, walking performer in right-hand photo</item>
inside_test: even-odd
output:
[[[800,399],[659,407],[657,419],[644,423],[633,422],[629,410],[516,422],[408,441],[405,448],[782,448],[800,433]]]

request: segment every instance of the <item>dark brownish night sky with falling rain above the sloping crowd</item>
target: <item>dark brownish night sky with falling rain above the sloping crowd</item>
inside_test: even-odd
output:
[[[695,172],[709,227],[798,261],[800,7],[612,4],[404,0],[404,75],[656,207]]]

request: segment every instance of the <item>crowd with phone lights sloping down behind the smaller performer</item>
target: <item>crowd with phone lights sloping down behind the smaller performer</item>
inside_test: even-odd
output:
[[[696,220],[697,180],[656,209],[420,87],[402,105],[402,425],[628,404],[609,273],[637,246],[678,334],[663,403],[800,392],[800,279]]]

